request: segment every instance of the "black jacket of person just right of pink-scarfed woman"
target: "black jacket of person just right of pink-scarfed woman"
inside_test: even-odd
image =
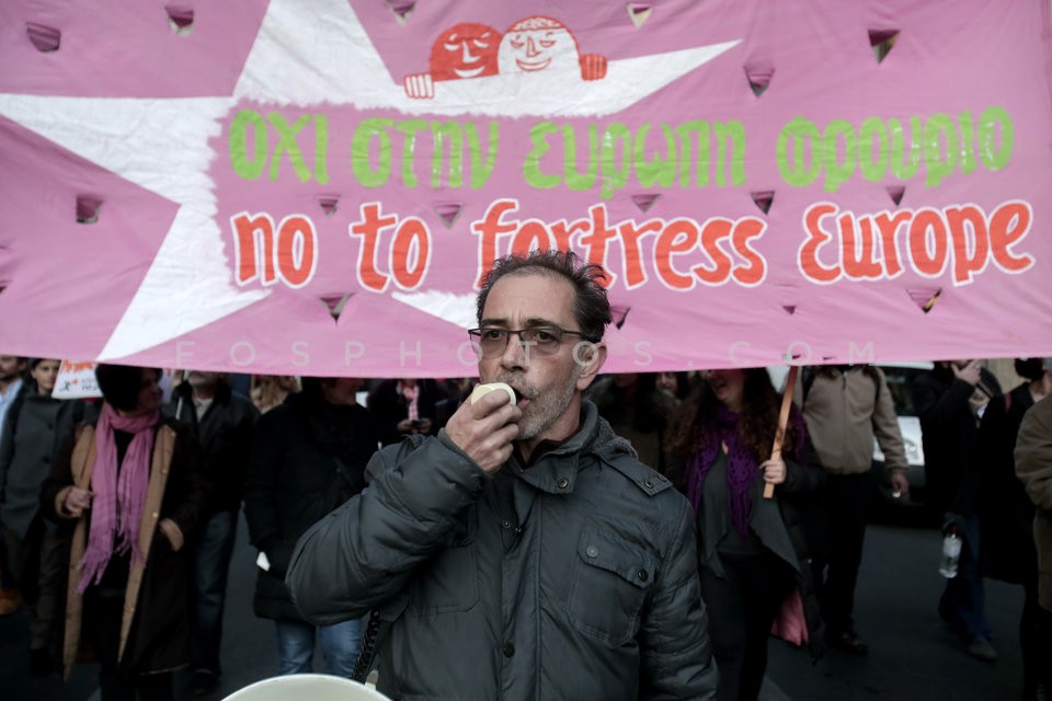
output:
[[[172,401],[164,406],[164,413],[188,424],[201,440],[205,474],[211,485],[209,510],[238,510],[252,449],[252,426],[260,417],[252,400],[220,381],[211,404],[198,421],[193,388],[183,382],[172,391]]]

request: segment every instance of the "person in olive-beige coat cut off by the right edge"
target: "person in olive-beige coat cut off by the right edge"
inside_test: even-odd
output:
[[[1030,407],[1016,439],[1016,475],[1033,502],[1038,551],[1038,604],[1034,611],[1040,657],[1052,659],[1052,395]],[[1044,696],[1052,692],[1052,665],[1041,671]]]

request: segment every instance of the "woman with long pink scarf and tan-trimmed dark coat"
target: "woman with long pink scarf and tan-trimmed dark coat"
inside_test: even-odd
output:
[[[62,663],[100,663],[103,701],[172,699],[188,656],[193,559],[205,503],[188,429],[159,414],[156,369],[100,365],[105,402],[56,457],[45,510],[71,525]],[[149,565],[149,566],[147,566]]]

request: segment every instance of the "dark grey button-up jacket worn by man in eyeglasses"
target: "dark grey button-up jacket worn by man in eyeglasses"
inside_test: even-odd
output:
[[[591,402],[581,418],[496,475],[445,430],[380,451],[369,487],[300,539],[300,610],[379,607],[393,699],[712,698],[690,505]]]

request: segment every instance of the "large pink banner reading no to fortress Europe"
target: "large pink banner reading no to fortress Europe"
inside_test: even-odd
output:
[[[493,258],[609,370],[1052,355],[1049,3],[0,5],[5,353],[462,376]]]

